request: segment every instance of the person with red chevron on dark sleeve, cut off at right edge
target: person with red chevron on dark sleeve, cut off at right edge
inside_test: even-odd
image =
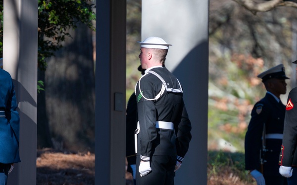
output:
[[[293,62],[297,64],[297,61]],[[297,73],[297,68],[296,68]],[[296,76],[297,77],[297,76]],[[297,87],[288,96],[279,172],[288,178],[288,185],[297,185]]]

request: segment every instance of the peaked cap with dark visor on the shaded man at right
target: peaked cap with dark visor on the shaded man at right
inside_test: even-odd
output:
[[[285,67],[283,64],[270,68],[269,70],[259,74],[258,77],[262,78],[263,82],[270,78],[290,79],[288,76],[286,76]]]

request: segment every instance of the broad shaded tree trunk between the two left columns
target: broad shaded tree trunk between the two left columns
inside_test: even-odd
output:
[[[64,47],[49,60],[46,109],[54,148],[95,151],[95,67],[92,31],[70,30]]]

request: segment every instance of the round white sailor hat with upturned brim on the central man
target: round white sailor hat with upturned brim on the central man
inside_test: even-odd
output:
[[[168,49],[170,45],[160,37],[148,37],[144,41],[140,42],[140,47],[155,48],[155,49]]]

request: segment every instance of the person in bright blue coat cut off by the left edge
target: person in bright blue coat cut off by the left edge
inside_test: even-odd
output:
[[[6,185],[8,173],[19,157],[19,114],[14,86],[9,73],[0,69],[0,185]]]

